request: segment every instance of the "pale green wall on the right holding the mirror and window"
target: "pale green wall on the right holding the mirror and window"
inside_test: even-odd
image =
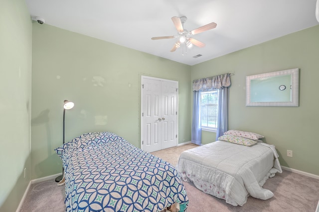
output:
[[[191,79],[231,76],[229,129],[256,132],[275,144],[281,165],[319,175],[319,25],[192,67]],[[246,107],[245,77],[299,68],[299,107]],[[216,134],[202,132],[202,143]],[[293,157],[287,156],[293,150]]]

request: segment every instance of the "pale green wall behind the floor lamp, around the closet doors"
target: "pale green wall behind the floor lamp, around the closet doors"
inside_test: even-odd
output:
[[[141,76],[177,80],[179,143],[190,141],[191,67],[47,24],[33,23],[32,179],[61,172],[54,148],[87,132],[114,132],[141,147]]]

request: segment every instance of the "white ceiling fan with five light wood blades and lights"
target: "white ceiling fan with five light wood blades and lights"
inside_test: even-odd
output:
[[[207,30],[213,29],[217,26],[216,23],[211,22],[209,24],[206,24],[204,26],[201,26],[197,29],[187,31],[184,29],[184,23],[187,20],[187,17],[172,17],[171,20],[173,21],[173,24],[175,25],[177,29],[177,36],[161,36],[161,37],[153,37],[152,40],[159,40],[159,39],[169,39],[169,38],[178,38],[178,41],[174,44],[173,48],[170,50],[171,52],[174,52],[177,48],[180,47],[181,44],[185,43],[186,46],[189,46],[190,44],[193,44],[195,46],[198,46],[200,48],[204,47],[205,44],[192,38],[192,35],[205,32]]]

